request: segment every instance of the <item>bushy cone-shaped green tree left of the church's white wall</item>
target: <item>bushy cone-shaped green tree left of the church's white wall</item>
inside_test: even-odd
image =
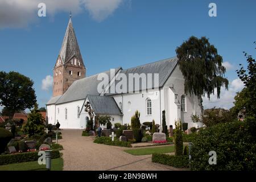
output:
[[[27,123],[22,126],[22,130],[32,136],[37,133],[42,133],[44,130],[44,118],[40,111],[38,110],[38,105],[36,104],[31,113],[28,114]]]

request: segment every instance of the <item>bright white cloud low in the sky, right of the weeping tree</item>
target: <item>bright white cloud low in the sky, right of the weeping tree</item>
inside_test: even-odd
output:
[[[215,89],[214,95],[210,95],[210,100],[207,96],[203,97],[204,109],[209,109],[212,107],[222,107],[224,109],[230,109],[233,107],[234,97],[237,92],[243,89],[243,82],[237,78],[229,84],[229,90],[221,87],[220,99],[217,98],[217,90]]]

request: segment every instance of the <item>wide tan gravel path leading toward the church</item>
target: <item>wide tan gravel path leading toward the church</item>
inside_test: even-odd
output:
[[[126,147],[93,143],[93,137],[82,137],[82,130],[61,130],[64,170],[179,170],[151,162],[151,155],[134,156]]]

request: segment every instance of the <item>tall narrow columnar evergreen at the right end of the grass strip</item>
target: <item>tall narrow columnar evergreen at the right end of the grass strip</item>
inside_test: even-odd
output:
[[[175,121],[175,131],[174,131],[174,142],[175,142],[175,155],[182,155],[183,153],[183,139],[182,139],[182,129],[181,121]]]

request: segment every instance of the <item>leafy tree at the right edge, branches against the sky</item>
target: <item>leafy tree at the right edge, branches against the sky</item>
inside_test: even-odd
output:
[[[256,44],[254,42],[254,44]],[[243,52],[245,53],[245,52]],[[251,55],[245,53],[247,59],[247,71],[241,67],[237,75],[245,84],[245,88],[235,97],[233,110],[236,114],[245,109],[246,117],[256,117],[256,63]],[[240,64],[241,65],[241,64]],[[241,65],[242,66],[242,65]]]

